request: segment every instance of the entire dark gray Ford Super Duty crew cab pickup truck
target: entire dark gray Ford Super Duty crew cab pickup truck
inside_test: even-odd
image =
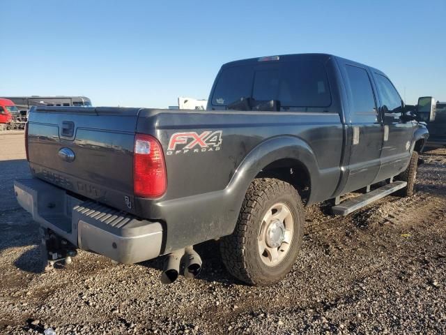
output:
[[[15,181],[15,193],[40,224],[49,265],[77,248],[123,263],[169,255],[170,283],[180,269],[199,272],[192,246],[220,239],[233,276],[267,285],[298,256],[304,205],[332,200],[346,215],[412,195],[429,136],[416,120],[384,73],[354,61],[233,61],[203,111],[36,108],[26,127],[33,178]]]

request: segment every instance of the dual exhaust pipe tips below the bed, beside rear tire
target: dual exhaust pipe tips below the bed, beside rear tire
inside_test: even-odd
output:
[[[180,274],[180,267],[184,265],[184,276],[195,278],[201,271],[201,257],[194,251],[193,246],[179,249],[167,256],[164,271],[161,274],[161,283],[171,284],[176,281]]]

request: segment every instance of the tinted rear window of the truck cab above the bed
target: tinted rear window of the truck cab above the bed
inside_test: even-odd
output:
[[[223,68],[212,105],[227,107],[247,99],[277,101],[281,107],[328,107],[325,67],[318,61],[270,61]]]

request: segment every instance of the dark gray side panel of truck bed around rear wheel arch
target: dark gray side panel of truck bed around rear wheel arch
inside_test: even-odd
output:
[[[164,150],[167,193],[135,198],[135,207],[166,222],[167,251],[230,234],[247,187],[270,164],[305,173],[296,178],[309,179],[309,203],[330,198],[341,174],[344,127],[337,112],[141,110],[137,132],[155,135]],[[220,149],[169,149],[176,134],[190,132],[221,132]]]

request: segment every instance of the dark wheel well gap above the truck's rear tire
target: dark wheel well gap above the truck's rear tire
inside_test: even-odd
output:
[[[304,204],[311,193],[311,179],[305,165],[291,158],[280,159],[266,165],[256,178],[275,178],[293,185]]]

